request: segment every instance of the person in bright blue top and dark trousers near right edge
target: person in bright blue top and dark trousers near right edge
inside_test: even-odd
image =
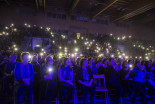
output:
[[[136,92],[133,96],[132,103],[135,103],[136,97],[138,92],[141,95],[141,103],[145,104],[146,100],[146,91],[145,91],[145,86],[144,86],[144,71],[142,70],[142,66],[139,60],[135,60],[135,65],[133,68],[133,72],[135,74],[134,76],[134,81],[135,81],[135,87],[136,87]]]

